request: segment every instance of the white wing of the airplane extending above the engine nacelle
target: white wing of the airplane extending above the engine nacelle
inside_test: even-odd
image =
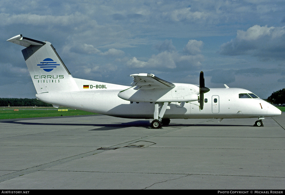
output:
[[[132,86],[136,86],[135,90],[148,90],[148,89],[167,89],[167,88],[174,88],[175,85],[173,83],[167,82],[165,80],[162,80],[154,74],[146,74],[146,73],[140,73],[140,74],[131,74],[134,79],[132,82]]]

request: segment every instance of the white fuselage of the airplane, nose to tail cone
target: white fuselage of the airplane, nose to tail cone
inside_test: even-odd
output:
[[[179,86],[179,84],[175,84]],[[183,84],[185,86],[187,84]],[[189,84],[191,85],[191,84]],[[105,84],[104,86],[108,86]],[[85,91],[41,93],[36,97],[53,105],[62,105],[99,114],[134,119],[153,119],[154,102],[131,102],[118,97],[120,89],[87,89]],[[240,88],[210,88],[204,95],[204,108],[198,101],[171,102],[164,118],[259,118],[280,115],[281,111],[260,98],[240,98],[239,94],[252,94]],[[163,102],[159,102],[162,107]]]

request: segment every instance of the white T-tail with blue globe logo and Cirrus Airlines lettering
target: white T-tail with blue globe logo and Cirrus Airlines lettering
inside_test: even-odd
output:
[[[50,42],[41,42],[22,35],[9,40],[25,46],[22,50],[37,94],[78,91],[78,85]]]

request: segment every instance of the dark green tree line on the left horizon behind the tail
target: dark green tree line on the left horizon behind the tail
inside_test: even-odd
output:
[[[50,107],[52,104],[44,103],[36,98],[0,98],[0,106],[21,107],[21,106],[38,106]]]

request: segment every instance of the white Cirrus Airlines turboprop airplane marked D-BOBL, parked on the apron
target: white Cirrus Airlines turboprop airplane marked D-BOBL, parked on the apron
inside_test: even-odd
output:
[[[281,111],[252,92],[229,88],[206,88],[203,72],[200,86],[170,83],[154,74],[132,74],[132,87],[73,78],[50,42],[22,35],[9,40],[22,50],[37,99],[54,107],[71,107],[121,118],[154,119],[152,128],[168,125],[170,119],[258,118],[281,115]],[[205,94],[205,95],[204,95]]]

